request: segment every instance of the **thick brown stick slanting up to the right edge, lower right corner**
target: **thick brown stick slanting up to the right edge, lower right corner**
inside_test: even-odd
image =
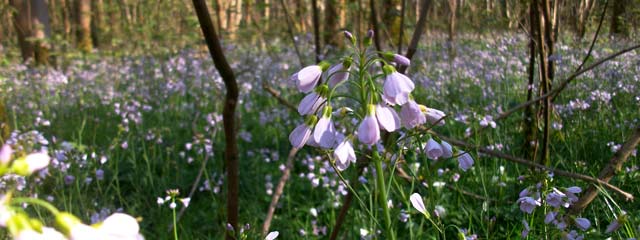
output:
[[[609,182],[616,173],[620,172],[622,165],[627,161],[631,152],[636,149],[640,143],[640,127],[637,127],[631,137],[622,145],[613,157],[609,160],[609,163],[600,171],[598,178],[602,181]],[[598,190],[594,186],[589,186],[587,191],[582,194],[580,200],[574,203],[569,209],[570,214],[577,215],[584,210],[593,199],[598,195]]]

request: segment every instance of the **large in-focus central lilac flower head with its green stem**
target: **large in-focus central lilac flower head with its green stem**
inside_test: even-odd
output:
[[[380,144],[381,131],[403,131],[403,128],[410,131],[427,122],[434,126],[444,125],[445,113],[416,103],[411,94],[415,89],[414,82],[396,71],[397,66],[408,66],[409,59],[391,52],[369,51],[373,31],[369,31],[365,37],[363,48],[358,46],[351,33],[345,32],[345,36],[351,42],[351,54],[333,65],[323,61],[304,67],[291,76],[298,90],[306,96],[298,105],[298,113],[305,117],[305,121],[291,132],[289,141],[297,149],[309,145],[332,151],[333,158],[330,161],[338,171],[344,171],[356,162],[358,148],[371,149],[376,170],[376,192],[385,220],[385,235],[395,239],[387,206],[389,196],[383,161],[387,163],[387,169],[392,169],[389,167],[392,165],[391,161],[380,156],[385,152]],[[377,63],[381,67],[376,71]],[[334,107],[338,103],[355,105]],[[343,129],[336,128],[336,118],[343,120],[339,121],[343,123],[340,125]],[[357,127],[349,123],[357,123]],[[360,144],[354,148],[356,139]],[[430,159],[457,157],[463,171],[471,168],[473,158],[467,153],[454,155],[455,152],[450,144],[431,137],[425,148],[425,154]]]

